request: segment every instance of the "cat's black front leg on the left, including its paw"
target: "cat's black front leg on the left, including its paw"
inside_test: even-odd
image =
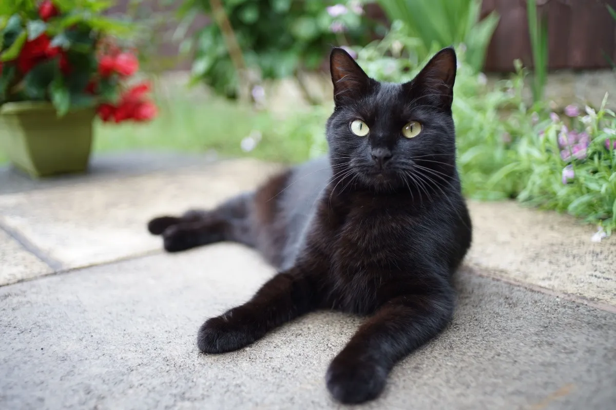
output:
[[[250,301],[203,323],[197,345],[204,353],[237,350],[317,305],[314,275],[294,267],[271,278]]]

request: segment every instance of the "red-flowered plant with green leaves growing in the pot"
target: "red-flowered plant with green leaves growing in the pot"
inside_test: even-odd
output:
[[[133,53],[112,35],[124,22],[102,17],[97,0],[2,1],[0,5],[0,104],[51,101],[59,116],[97,108],[103,120],[149,120],[156,106],[147,83],[131,85],[139,69]]]

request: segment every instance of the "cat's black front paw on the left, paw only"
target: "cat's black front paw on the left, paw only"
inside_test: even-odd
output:
[[[256,338],[246,326],[238,326],[227,314],[208,319],[201,325],[197,346],[203,353],[225,353],[251,344]]]

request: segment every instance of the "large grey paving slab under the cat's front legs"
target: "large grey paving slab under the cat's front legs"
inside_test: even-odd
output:
[[[334,409],[324,374],[361,319],[314,313],[243,350],[205,318],[274,272],[221,243],[0,288],[2,409]],[[614,409],[616,315],[460,272],[455,319],[367,409]]]

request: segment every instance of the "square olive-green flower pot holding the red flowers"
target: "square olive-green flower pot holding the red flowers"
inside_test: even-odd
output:
[[[0,106],[0,146],[12,164],[33,178],[87,170],[94,109],[58,117],[51,103]]]

